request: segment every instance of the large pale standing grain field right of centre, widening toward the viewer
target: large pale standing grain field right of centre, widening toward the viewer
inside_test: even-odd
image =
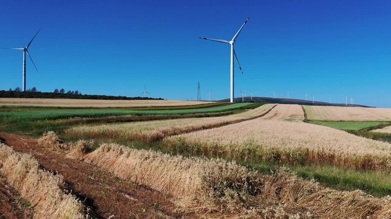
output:
[[[300,122],[298,120],[303,119],[298,113],[300,110],[298,105],[280,104],[264,117],[168,137],[163,140],[163,145],[173,152],[242,160],[330,164],[353,170],[391,170],[391,147],[388,143]],[[277,115],[275,119],[274,115]]]

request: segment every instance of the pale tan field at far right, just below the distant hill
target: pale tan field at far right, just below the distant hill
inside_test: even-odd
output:
[[[343,106],[303,106],[308,120],[319,121],[391,121],[389,108]]]

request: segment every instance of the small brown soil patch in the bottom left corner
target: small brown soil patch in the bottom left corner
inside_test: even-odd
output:
[[[0,175],[0,219],[32,218],[32,208],[26,205],[19,193]]]

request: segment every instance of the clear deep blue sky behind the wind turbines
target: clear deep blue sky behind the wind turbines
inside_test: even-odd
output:
[[[0,47],[27,46],[27,87],[214,100],[273,95],[391,107],[390,1],[3,1]],[[276,3],[279,2],[279,3]],[[22,52],[0,49],[0,90],[22,87]]]

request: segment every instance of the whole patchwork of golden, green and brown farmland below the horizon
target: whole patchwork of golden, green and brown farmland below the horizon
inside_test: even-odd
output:
[[[387,127],[380,114],[358,108],[365,119],[343,121],[332,120],[337,109],[295,104],[51,104],[0,112],[4,214],[391,217],[391,147],[349,133]]]

